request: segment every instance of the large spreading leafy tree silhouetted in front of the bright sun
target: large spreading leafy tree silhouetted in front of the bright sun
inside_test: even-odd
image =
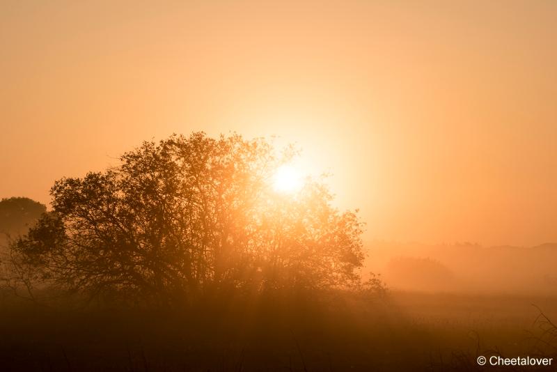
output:
[[[315,180],[275,192],[274,171],[293,155],[238,135],[144,142],[120,166],[58,180],[53,212],[13,243],[13,256],[56,286],[165,303],[350,286],[363,261],[361,222]]]

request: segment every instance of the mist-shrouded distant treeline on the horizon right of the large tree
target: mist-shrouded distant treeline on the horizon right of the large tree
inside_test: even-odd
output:
[[[425,293],[557,295],[557,244],[484,247],[367,242],[365,270],[393,289]]]

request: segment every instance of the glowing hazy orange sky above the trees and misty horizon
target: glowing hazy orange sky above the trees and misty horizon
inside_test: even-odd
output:
[[[557,241],[557,1],[0,1],[0,197],[281,136],[366,238]],[[309,164],[309,165],[308,165]]]

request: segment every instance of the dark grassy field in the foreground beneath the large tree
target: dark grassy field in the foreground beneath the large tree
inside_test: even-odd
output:
[[[552,355],[532,304],[557,318],[557,298],[510,295],[335,295],[174,312],[6,302],[2,371],[494,371],[476,357]]]

